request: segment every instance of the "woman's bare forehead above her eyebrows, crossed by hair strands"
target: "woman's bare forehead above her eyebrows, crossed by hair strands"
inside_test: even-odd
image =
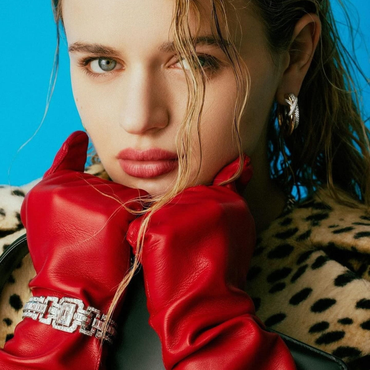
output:
[[[211,36],[211,0],[197,0],[201,23],[197,24],[194,11],[189,12],[191,35],[199,28],[200,36]],[[228,28],[238,48],[250,31],[255,33],[256,19],[249,1],[226,1]],[[169,52],[171,48],[164,41],[172,40],[170,26],[176,0],[63,0],[62,13],[68,44],[98,43],[110,45],[117,50],[132,47],[140,53],[140,47],[147,55],[151,50]],[[193,9],[191,7],[191,9]],[[219,26],[225,36],[225,25],[218,13]],[[212,44],[212,40],[208,40]],[[165,47],[167,46],[167,48]]]

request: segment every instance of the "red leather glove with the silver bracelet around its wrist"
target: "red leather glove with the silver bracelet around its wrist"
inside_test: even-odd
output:
[[[129,222],[136,217],[115,198],[125,202],[144,192],[84,173],[87,145],[83,131],[67,138],[51,168],[27,193],[21,220],[36,270],[29,283],[33,296],[80,299],[84,309],[92,306],[103,314],[130,267],[131,248],[125,235]],[[127,205],[141,207],[138,202]],[[66,323],[66,327],[71,325]],[[25,317],[0,350],[0,369],[105,369],[108,344],[104,342],[99,351],[100,339],[79,329],[65,332],[38,318]]]

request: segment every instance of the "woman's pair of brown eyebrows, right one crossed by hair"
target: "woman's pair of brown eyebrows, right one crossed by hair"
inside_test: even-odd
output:
[[[200,45],[209,45],[209,46],[216,46],[216,47],[219,47],[219,44],[222,44],[220,38],[215,38],[212,35],[199,36],[196,39],[191,38],[190,41],[193,43],[194,41],[196,41],[195,42],[196,45],[200,44]],[[224,43],[226,47],[230,46],[228,41],[224,40]],[[162,53],[169,53],[174,50],[175,50],[174,41],[166,41],[158,47],[158,51],[161,51]],[[87,42],[82,42],[82,41],[76,41],[72,43],[68,47],[68,52],[70,53],[76,53],[76,52],[90,53],[94,55],[108,55],[109,54],[114,57],[119,57],[121,54],[120,51],[114,47],[97,44],[97,43],[87,43]]]

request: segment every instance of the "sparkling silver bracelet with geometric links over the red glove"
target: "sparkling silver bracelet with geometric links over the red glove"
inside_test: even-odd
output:
[[[51,304],[50,304],[51,303]],[[47,314],[47,317],[46,317]],[[22,319],[30,317],[44,324],[53,326],[54,329],[73,333],[80,326],[80,333],[101,338],[102,327],[107,315],[100,310],[88,306],[84,309],[81,299],[63,297],[31,297],[23,307]],[[117,324],[109,320],[107,332],[103,340],[112,343],[117,334]]]

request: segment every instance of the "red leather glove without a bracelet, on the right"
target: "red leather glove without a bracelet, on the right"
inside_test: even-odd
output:
[[[242,290],[256,242],[255,223],[231,178],[239,159],[210,186],[185,189],[152,215],[142,268],[149,324],[167,370],[293,370],[281,337],[265,330]],[[241,178],[252,176],[244,157]],[[127,240],[136,253],[141,216]]]

